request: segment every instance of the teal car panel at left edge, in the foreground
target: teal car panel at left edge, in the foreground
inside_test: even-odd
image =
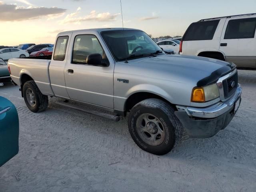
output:
[[[0,96],[0,166],[19,151],[18,112],[8,99]]]

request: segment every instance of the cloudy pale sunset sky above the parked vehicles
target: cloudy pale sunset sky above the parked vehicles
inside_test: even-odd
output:
[[[256,12],[256,0],[122,0],[125,28],[182,36],[204,18]],[[62,31],[122,27],[120,0],[0,0],[0,45],[54,43]]]

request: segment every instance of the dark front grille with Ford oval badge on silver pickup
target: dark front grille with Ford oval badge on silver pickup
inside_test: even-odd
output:
[[[238,86],[238,73],[236,72],[233,76],[230,78],[227,78],[223,82],[223,89],[224,89],[224,97],[229,98],[236,92],[236,88]],[[232,86],[233,84],[233,86]]]

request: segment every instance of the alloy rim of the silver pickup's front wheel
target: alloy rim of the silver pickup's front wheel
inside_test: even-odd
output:
[[[149,145],[158,146],[164,141],[165,130],[156,116],[145,113],[138,117],[136,129],[140,138]]]

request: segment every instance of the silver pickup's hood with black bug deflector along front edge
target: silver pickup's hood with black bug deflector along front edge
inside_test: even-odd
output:
[[[155,74],[159,71],[161,76],[158,78],[168,78],[174,81],[183,81],[184,79],[196,81],[197,86],[212,84],[236,68],[233,63],[212,58],[168,54],[144,58],[136,62],[139,66],[154,70]]]

